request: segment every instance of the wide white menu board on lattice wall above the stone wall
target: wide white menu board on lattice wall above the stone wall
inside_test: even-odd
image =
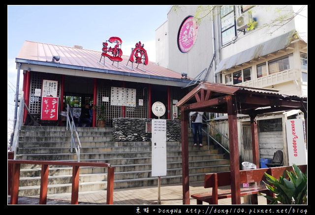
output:
[[[136,89],[112,87],[111,105],[136,106]]]

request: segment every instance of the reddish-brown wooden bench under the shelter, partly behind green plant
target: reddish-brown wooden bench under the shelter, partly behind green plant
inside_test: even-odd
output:
[[[299,166],[302,172],[306,172],[307,165]],[[240,183],[257,183],[257,185],[242,187],[240,195],[254,195],[252,198],[252,204],[258,204],[257,193],[265,193],[269,196],[274,196],[274,193],[270,192],[265,184],[260,184],[261,181],[265,181],[265,173],[272,175],[273,177],[279,179],[283,175],[284,171],[293,171],[292,166],[284,167],[272,167],[263,169],[253,169],[253,170],[241,170],[240,171]],[[230,185],[230,171],[221,173],[210,173],[205,174],[204,187],[211,188],[212,192],[192,194],[191,197],[197,200],[197,205],[202,205],[202,202],[208,202],[212,205],[218,205],[219,199],[230,198],[232,196],[231,189],[221,189],[218,190],[220,186]],[[267,201],[268,202],[268,201]]]

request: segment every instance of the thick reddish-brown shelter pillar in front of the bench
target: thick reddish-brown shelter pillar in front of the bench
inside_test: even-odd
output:
[[[230,149],[230,169],[231,169],[231,192],[232,205],[241,204],[240,190],[240,166],[238,151],[238,132],[237,132],[237,112],[234,96],[227,96],[227,120],[229,132]]]

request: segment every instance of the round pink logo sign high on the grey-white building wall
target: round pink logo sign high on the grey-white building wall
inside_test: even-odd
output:
[[[187,53],[195,44],[198,34],[198,24],[193,16],[188,16],[182,22],[178,31],[178,48],[181,52]]]

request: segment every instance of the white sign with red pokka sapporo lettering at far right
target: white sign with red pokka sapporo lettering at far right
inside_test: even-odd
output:
[[[286,138],[289,165],[307,164],[303,119],[286,121]]]

